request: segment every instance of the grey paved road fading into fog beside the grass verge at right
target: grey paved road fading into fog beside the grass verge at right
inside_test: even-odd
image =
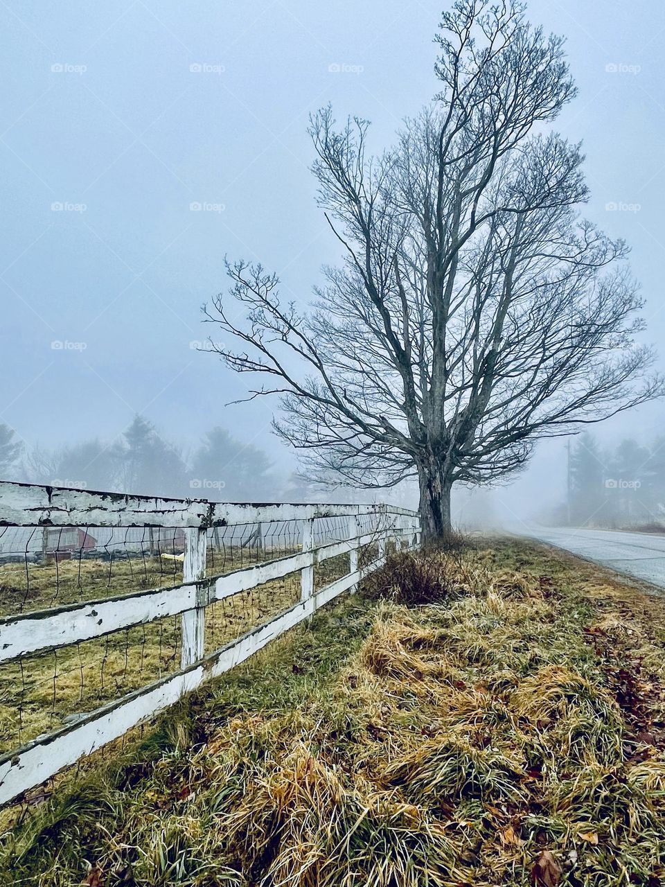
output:
[[[523,535],[665,589],[665,536],[561,527],[529,528]]]

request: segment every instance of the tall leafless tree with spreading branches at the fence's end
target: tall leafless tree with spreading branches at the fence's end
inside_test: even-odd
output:
[[[544,132],[575,95],[562,41],[522,4],[458,0],[443,15],[442,91],[395,148],[368,123],[311,122],[314,172],[343,263],[312,310],[276,275],[227,263],[206,310],[240,341],[218,349],[278,393],[278,433],[319,476],[387,486],[417,476],[426,538],[450,530],[453,483],[524,465],[537,438],[655,396],[626,247],[579,218],[578,145]],[[535,131],[537,130],[537,131]]]

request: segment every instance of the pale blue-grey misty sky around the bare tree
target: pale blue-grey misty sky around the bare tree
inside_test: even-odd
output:
[[[339,251],[314,200],[308,115],[330,101],[389,144],[437,90],[441,8],[0,4],[0,422],[51,446],[108,439],[141,412],[185,449],[221,424],[286,466],[275,404],[224,406],[245,377],[192,349],[215,338],[200,305],[225,286],[224,254],[260,259],[309,301]],[[567,35],[580,95],[558,128],[583,140],[586,215],[633,247],[665,369],[665,4],[533,0],[529,17]],[[664,414],[645,407],[608,434],[649,438]],[[562,451],[545,446],[505,501],[550,491]]]

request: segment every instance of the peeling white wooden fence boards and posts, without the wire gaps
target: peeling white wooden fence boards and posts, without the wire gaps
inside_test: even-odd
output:
[[[347,538],[315,546],[315,522],[327,517],[347,521]],[[206,576],[208,530],[262,522],[297,522],[301,542],[296,553],[224,575]],[[419,544],[417,514],[393,506],[231,504],[0,482],[0,529],[45,526],[183,529],[183,582],[4,617],[0,619],[0,663],[101,638],[164,616],[182,615],[181,668],[1,756],[0,805],[243,662],[339,594],[355,590],[359,580],[384,561],[388,540],[394,539],[402,547]],[[358,550],[368,545],[378,547],[378,558],[359,569]],[[315,566],[345,553],[349,555],[348,574],[315,592]],[[204,655],[206,608],[210,604],[296,572],[301,577],[300,600]]]

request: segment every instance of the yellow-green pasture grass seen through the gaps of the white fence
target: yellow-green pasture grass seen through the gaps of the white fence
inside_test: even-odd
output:
[[[269,549],[263,553],[270,558],[284,552]],[[235,552],[230,563],[238,565],[242,558],[247,554]],[[317,564],[315,587],[348,573],[348,562],[348,554],[343,554]],[[216,568],[221,569],[219,557]],[[0,566],[0,602],[6,612],[16,613],[24,601],[26,610],[34,610],[181,581],[182,564],[160,558],[30,564],[28,572],[25,564],[4,564]],[[210,605],[206,653],[277,616],[300,596],[300,574],[293,573]],[[180,653],[181,618],[172,616],[0,664],[0,754],[57,729],[69,716],[94,710],[173,674],[180,668]]]

